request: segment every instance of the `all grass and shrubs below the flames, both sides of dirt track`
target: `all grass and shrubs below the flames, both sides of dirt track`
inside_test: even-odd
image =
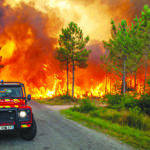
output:
[[[62,110],[67,118],[102,131],[138,149],[150,149],[150,96],[106,95],[104,98],[76,99],[57,96],[36,100],[49,105],[74,105]]]

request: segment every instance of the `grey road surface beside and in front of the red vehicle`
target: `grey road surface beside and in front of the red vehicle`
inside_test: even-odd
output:
[[[33,141],[0,135],[0,150],[130,150],[128,145],[65,119],[51,107],[31,101],[38,126]],[[54,108],[54,107],[53,107]],[[56,107],[57,108],[57,107]],[[59,108],[60,109],[60,108]],[[58,109],[56,109],[58,110]]]

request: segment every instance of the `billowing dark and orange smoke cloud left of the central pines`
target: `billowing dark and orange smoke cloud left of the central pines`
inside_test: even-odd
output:
[[[54,57],[57,39],[53,34],[59,32],[61,20],[58,17],[56,19],[53,9],[46,15],[25,3],[15,8],[1,3],[0,12],[1,55],[5,66],[1,77],[41,86],[46,79],[43,64],[55,64],[49,66],[49,75],[59,71]],[[51,22],[55,22],[57,27]],[[47,26],[51,33],[48,33]]]

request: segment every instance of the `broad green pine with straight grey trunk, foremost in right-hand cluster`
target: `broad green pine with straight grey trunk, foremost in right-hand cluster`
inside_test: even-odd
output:
[[[108,42],[104,41],[104,46],[109,50],[109,65],[122,78],[125,93],[125,74],[135,70],[137,65],[135,60],[139,61],[142,57],[141,41],[135,36],[135,26],[129,28],[126,20],[122,20],[118,28],[113,20],[111,24],[112,38]]]

